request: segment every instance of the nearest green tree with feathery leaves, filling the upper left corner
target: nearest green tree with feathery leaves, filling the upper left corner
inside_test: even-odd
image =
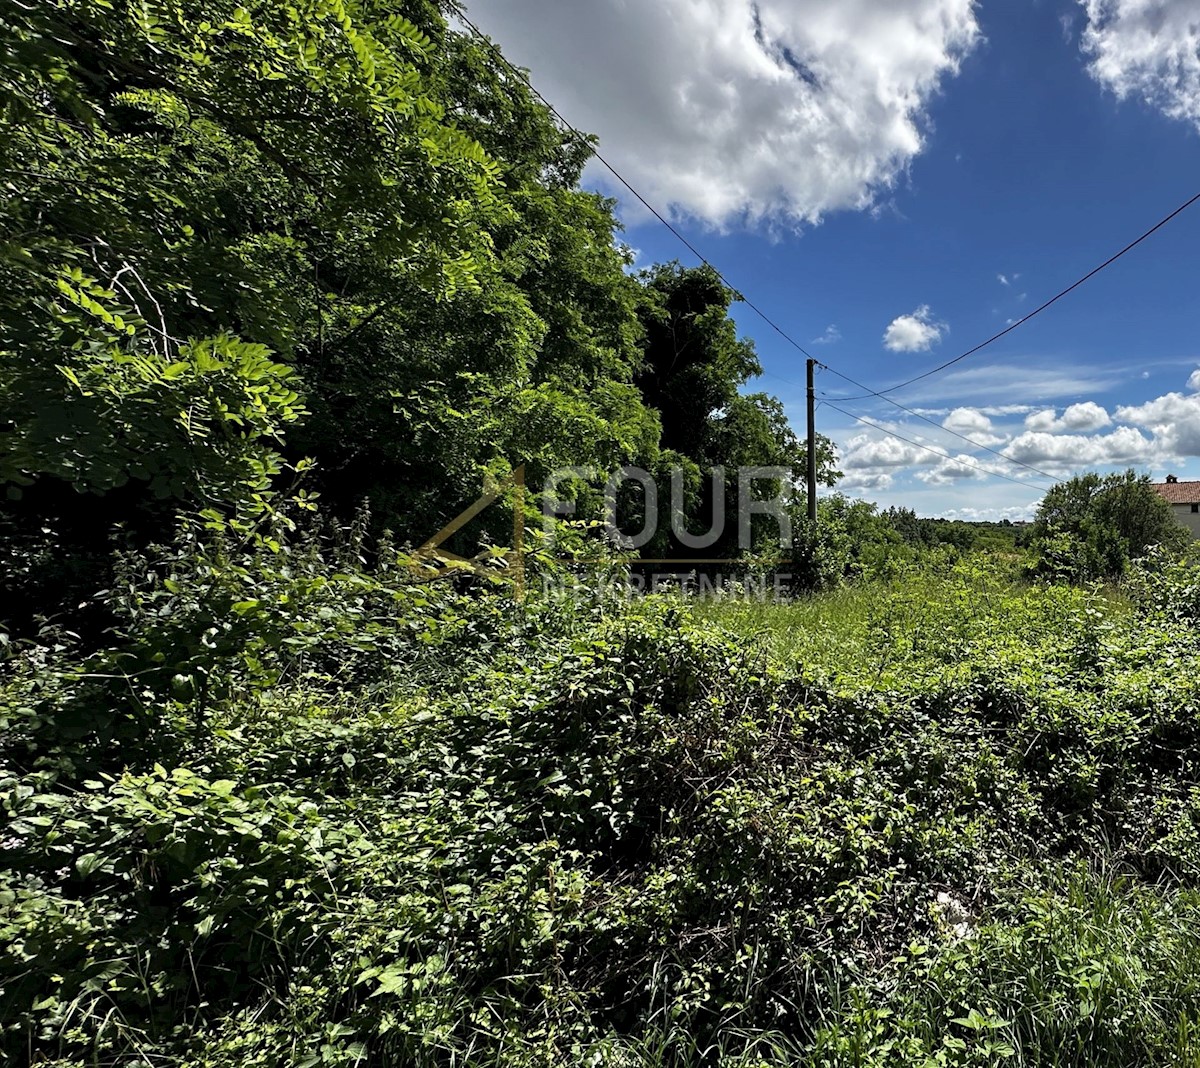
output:
[[[430,96],[431,52],[374,0],[14,6],[0,22],[10,488],[260,491],[302,410],[288,364],[322,334],[308,294],[336,270],[326,256],[353,245],[364,274],[403,263],[444,293],[470,284],[496,164]]]

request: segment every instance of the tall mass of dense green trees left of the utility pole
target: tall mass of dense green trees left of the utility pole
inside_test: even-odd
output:
[[[739,394],[734,294],[632,275],[589,144],[436,5],[56,0],[0,35],[10,625],[90,594],[40,532],[102,586],[114,526],[269,509],[288,464],[415,544],[520,464],[682,466],[701,522],[702,470],[803,470]]]

